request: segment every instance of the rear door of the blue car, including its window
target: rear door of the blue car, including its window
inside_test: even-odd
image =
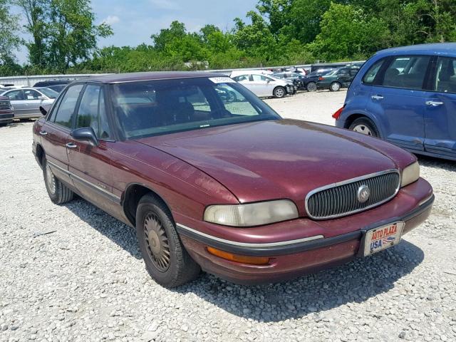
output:
[[[390,58],[366,103],[368,113],[381,121],[382,138],[412,151],[424,150],[428,93],[423,86],[429,68],[430,56]]]

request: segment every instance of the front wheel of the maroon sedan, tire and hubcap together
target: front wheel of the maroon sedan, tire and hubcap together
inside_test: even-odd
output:
[[[172,288],[197,278],[201,269],[182,246],[170,209],[151,194],[138,204],[136,234],[145,268],[158,284]]]

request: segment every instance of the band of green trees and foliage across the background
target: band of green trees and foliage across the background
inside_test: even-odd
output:
[[[90,0],[11,1],[22,9],[31,36],[26,43],[29,65],[18,66],[14,55],[6,54],[19,44],[17,19],[5,15],[9,1],[0,0],[0,53],[11,73],[294,65],[456,41],[456,0],[259,0],[245,19],[234,19],[229,31],[209,24],[193,32],[173,21],[151,32],[150,41],[140,46],[101,49],[98,38],[113,32],[106,24],[94,24]]]

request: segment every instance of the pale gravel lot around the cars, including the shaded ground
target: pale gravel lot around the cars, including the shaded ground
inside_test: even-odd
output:
[[[331,124],[344,96],[267,102]],[[170,291],[133,229],[81,199],[51,203],[31,126],[0,128],[0,341],[456,341],[455,162],[420,158],[432,216],[385,252],[284,284],[203,274]]]

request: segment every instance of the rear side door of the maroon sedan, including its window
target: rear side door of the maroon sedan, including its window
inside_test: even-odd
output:
[[[68,173],[66,144],[73,126],[76,103],[82,89],[81,84],[71,86],[59,97],[39,133],[46,160],[53,174],[68,185],[73,185],[73,182]]]

